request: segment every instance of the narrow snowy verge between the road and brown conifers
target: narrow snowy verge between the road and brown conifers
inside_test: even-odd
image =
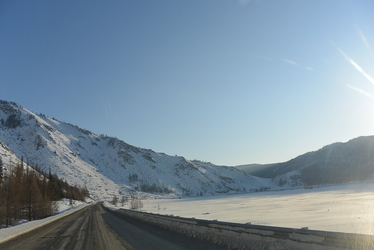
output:
[[[92,203],[93,201],[91,199],[87,200],[87,202]],[[83,207],[89,205],[89,203],[85,203],[82,201],[73,200],[72,207],[69,205],[68,199],[62,199],[58,201],[59,204],[59,212],[57,215],[49,216],[45,219],[36,220],[36,221],[26,221],[22,220],[18,222],[16,225],[13,225],[9,228],[2,228],[0,229],[0,243],[9,240],[10,238],[16,237],[19,234],[22,234],[24,232],[28,232],[31,230],[34,230],[40,226],[43,226],[49,222],[52,222],[58,218],[61,218],[63,216],[66,216],[70,213],[73,213],[79,209],[82,209]]]

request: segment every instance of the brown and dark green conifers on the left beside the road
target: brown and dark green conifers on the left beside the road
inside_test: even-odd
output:
[[[58,212],[57,200],[85,201],[85,197],[89,197],[86,187],[70,185],[50,169],[46,173],[37,164],[24,165],[23,157],[16,163],[10,159],[5,169],[0,156],[0,225],[43,219]]]

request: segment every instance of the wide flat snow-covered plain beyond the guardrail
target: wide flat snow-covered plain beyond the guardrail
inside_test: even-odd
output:
[[[374,182],[143,203],[142,211],[188,218],[374,234]]]

